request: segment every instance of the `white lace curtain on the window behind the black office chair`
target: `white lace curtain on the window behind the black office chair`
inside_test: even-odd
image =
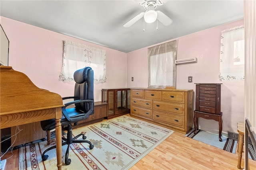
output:
[[[106,51],[87,45],[64,41],[62,70],[59,80],[74,80],[76,70],[90,66],[94,71],[94,82],[106,82]]]

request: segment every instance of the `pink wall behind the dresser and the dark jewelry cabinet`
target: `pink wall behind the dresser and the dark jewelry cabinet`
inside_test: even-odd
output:
[[[235,21],[179,37],[177,59],[196,57],[197,63],[177,65],[177,89],[196,90],[194,83],[222,83],[221,111],[223,112],[223,132],[236,132],[236,123],[244,119],[244,81],[220,82],[220,36],[224,29],[240,26],[244,20]],[[171,41],[171,40],[170,40]],[[148,87],[147,49],[127,53],[127,87]],[[134,81],[131,81],[131,77]],[[188,83],[188,76],[193,82]],[[195,106],[195,102],[194,102]],[[200,129],[218,133],[218,122],[199,118]]]

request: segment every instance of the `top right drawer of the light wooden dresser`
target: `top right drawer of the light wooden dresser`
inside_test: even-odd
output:
[[[162,91],[162,100],[167,102],[185,103],[185,92],[167,92]]]

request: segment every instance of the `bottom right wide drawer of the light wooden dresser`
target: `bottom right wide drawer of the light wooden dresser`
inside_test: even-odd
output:
[[[184,128],[184,116],[173,115],[161,111],[153,111],[153,120]]]

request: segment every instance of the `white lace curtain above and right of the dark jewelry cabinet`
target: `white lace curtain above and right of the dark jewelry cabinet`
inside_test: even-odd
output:
[[[244,80],[244,26],[225,29],[220,40],[220,81]]]

